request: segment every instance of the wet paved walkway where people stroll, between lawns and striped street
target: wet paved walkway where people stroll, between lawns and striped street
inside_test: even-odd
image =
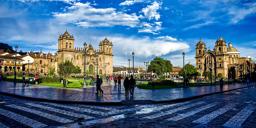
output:
[[[252,85],[256,85],[256,83],[253,82]],[[223,92],[244,87],[248,86],[246,84],[226,84],[223,86]],[[125,97],[123,85],[121,89],[118,89],[117,85],[110,86],[109,83],[104,81],[101,89],[104,91],[104,94],[95,95],[96,86],[89,88],[60,88],[31,84],[23,86],[22,83],[0,82],[0,92],[3,94],[11,94],[33,100],[98,105],[172,102],[189,100],[189,98],[193,99],[220,92],[219,85],[161,90],[142,90],[136,87],[134,96],[129,95],[127,98]]]

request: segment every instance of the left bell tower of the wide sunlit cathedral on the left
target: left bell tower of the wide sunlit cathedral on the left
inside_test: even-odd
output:
[[[59,51],[72,51],[74,49],[74,37],[73,35],[70,36],[68,34],[68,31],[62,35],[60,35],[58,41],[59,41]]]

